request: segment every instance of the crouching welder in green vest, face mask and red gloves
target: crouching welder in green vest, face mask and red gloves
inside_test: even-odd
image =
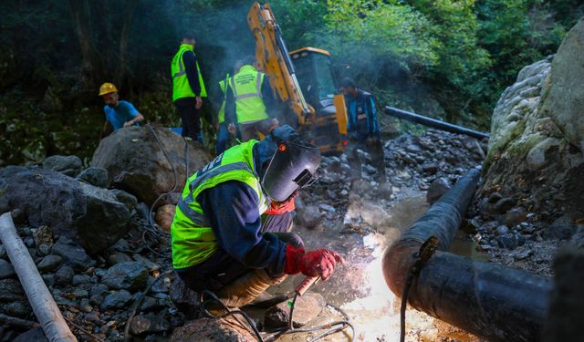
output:
[[[191,176],[172,223],[172,266],[194,291],[213,291],[225,306],[245,306],[286,275],[328,279],[343,259],[305,252],[287,220],[262,213],[289,210],[297,189],[315,179],[318,148],[289,126],[265,140],[225,150]],[[271,202],[270,202],[271,201]]]

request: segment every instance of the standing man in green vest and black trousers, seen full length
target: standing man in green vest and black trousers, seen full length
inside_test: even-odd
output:
[[[194,36],[184,35],[179,51],[172,58],[172,101],[183,121],[183,137],[203,143],[200,110],[207,91],[194,54],[195,45]]]

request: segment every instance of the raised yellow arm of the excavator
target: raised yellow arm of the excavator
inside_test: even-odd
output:
[[[294,65],[270,5],[252,5],[247,23],[255,37],[258,67],[269,76],[274,93],[297,115],[300,127],[314,122],[315,109],[308,105],[298,85]]]

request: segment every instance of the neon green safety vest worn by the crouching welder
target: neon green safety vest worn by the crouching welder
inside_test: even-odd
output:
[[[200,264],[219,248],[201,204],[196,201],[203,190],[224,181],[242,181],[257,194],[259,213],[266,212],[268,200],[254,167],[253,148],[258,142],[249,140],[225,150],[186,181],[171,226],[172,266],[175,269]]]

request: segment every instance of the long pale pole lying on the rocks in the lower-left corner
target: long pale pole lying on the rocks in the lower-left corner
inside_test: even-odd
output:
[[[16,275],[25,290],[28,302],[33,308],[36,319],[42,326],[49,341],[77,341],[67,323],[61,316],[57,303],[47,289],[47,285],[36,270],[33,259],[25,244],[16,233],[10,212],[0,216],[0,239],[6,254],[15,267]]]

